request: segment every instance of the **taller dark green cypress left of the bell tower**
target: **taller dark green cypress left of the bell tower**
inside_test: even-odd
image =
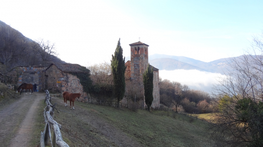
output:
[[[125,93],[125,57],[122,55],[123,49],[120,46],[120,38],[115,49],[114,55],[112,55],[111,67],[114,84],[114,94],[118,99],[118,107],[120,100],[123,99]]]

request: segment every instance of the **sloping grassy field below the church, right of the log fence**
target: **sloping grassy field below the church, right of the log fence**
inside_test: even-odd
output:
[[[133,112],[81,102],[70,110],[63,99],[52,102],[58,103],[60,113],[55,112],[54,120],[62,125],[69,146],[212,146],[205,136],[207,122],[174,112]]]

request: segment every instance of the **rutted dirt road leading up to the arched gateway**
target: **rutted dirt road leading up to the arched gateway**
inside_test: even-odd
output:
[[[28,141],[32,138],[36,108],[38,103],[44,100],[45,93],[22,95],[21,99],[0,111],[1,146],[28,146]]]

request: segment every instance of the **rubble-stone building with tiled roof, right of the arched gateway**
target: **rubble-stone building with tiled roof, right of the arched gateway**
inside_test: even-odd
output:
[[[68,91],[70,93],[80,93],[83,96],[87,96],[87,93],[83,91],[83,86],[80,83],[77,76],[70,73],[84,72],[80,70],[79,64],[70,63],[52,63],[45,70],[45,89],[50,91]],[[83,101],[83,97],[76,99]]]

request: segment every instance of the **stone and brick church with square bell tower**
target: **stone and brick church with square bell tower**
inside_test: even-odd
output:
[[[138,95],[143,97],[143,106],[145,107],[144,102],[144,86],[143,86],[143,73],[147,69],[148,61],[148,47],[149,45],[143,42],[135,42],[131,43],[130,51],[131,51],[131,60],[125,63],[127,66],[125,71],[125,81],[126,83],[132,82],[133,88],[136,87],[136,91]],[[159,108],[160,105],[160,96],[159,96],[159,69],[150,65],[150,68],[153,69],[154,77],[153,77],[153,104],[152,107]],[[129,86],[127,85],[127,88]],[[129,89],[126,89],[126,94],[128,94]]]

